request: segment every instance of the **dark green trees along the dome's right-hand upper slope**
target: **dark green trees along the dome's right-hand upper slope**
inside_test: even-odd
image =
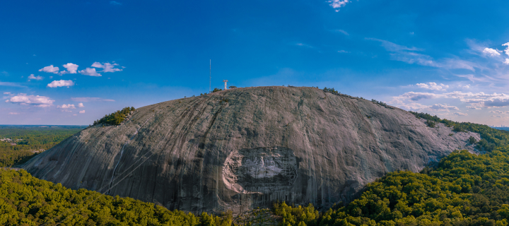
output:
[[[447,127],[452,127],[453,131],[471,131],[474,133],[479,133],[481,135],[481,141],[477,142],[479,149],[485,151],[491,151],[496,147],[509,145],[509,131],[503,131],[498,129],[493,129],[490,126],[474,124],[470,122],[456,122],[450,121],[447,119],[440,119],[436,115],[431,116],[428,113],[418,113],[411,112],[416,117],[426,119],[427,124],[430,127],[435,126],[434,122],[440,122],[445,124]]]

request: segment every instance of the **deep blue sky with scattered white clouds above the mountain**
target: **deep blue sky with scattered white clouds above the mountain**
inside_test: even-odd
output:
[[[2,1],[0,124],[238,87],[333,87],[509,126],[508,1]],[[58,68],[58,69],[57,69]]]

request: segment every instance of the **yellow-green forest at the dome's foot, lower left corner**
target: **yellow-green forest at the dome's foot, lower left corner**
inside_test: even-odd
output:
[[[0,169],[0,225],[232,225],[222,216],[170,211],[133,198],[66,189],[21,169]]]

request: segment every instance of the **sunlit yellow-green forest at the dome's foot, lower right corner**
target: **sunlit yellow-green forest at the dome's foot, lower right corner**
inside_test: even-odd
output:
[[[322,215],[312,206],[274,205],[284,225],[508,225],[509,148],[456,150],[421,174],[392,172],[360,198]],[[311,217],[310,217],[311,216]]]

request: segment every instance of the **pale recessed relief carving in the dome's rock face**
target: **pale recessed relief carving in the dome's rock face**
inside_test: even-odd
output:
[[[234,150],[223,165],[223,182],[238,193],[290,189],[297,179],[297,157],[290,148]]]

